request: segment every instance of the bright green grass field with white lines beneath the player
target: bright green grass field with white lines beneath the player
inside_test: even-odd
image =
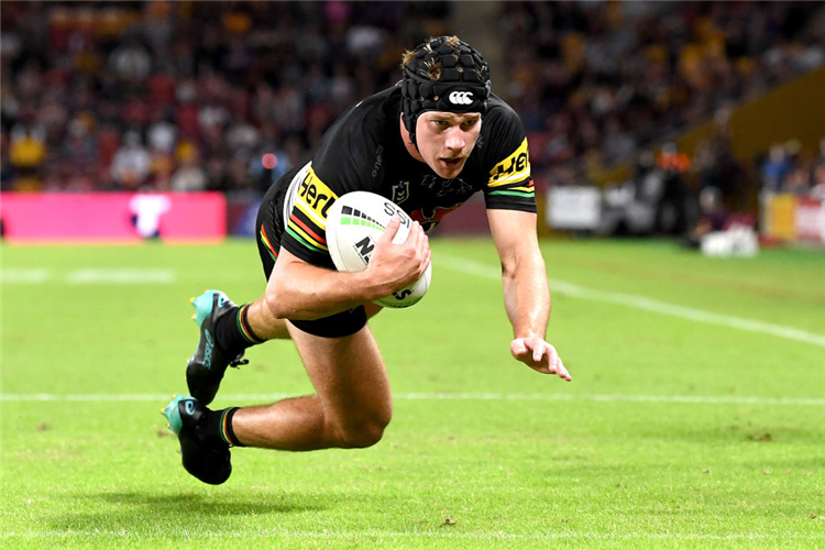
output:
[[[825,548],[825,254],[706,258],[547,241],[549,340],[509,358],[491,242],[433,240],[416,307],[372,321],[395,417],[376,447],[183,470],[190,296],[264,287],[252,242],[0,248],[2,529],[31,548]],[[215,405],[311,391],[290,342]]]

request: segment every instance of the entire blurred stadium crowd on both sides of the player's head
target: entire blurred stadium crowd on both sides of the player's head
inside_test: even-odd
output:
[[[654,10],[650,10],[656,4]],[[776,144],[741,165],[736,102],[825,64],[820,0],[508,0],[506,74],[537,185],[630,163],[698,193],[823,194],[821,151]],[[0,190],[202,190],[243,199],[304,161],[354,101],[398,78],[400,53],[453,31],[450,0],[4,1]],[[468,37],[468,40],[472,38]],[[661,148],[716,119],[696,151]],[[275,153],[273,170],[261,158]]]

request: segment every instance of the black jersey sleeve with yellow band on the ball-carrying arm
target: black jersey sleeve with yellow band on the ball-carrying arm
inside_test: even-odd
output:
[[[341,195],[370,190],[364,166],[372,167],[369,152],[375,151],[380,139],[377,122],[364,120],[356,110],[353,108],[330,128],[304,172],[280,243],[305,262],[331,270],[334,264],[327,245],[329,209]]]

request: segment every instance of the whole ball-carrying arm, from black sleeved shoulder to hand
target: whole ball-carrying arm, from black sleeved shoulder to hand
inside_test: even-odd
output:
[[[386,127],[380,98],[350,109],[330,128],[312,162],[290,189],[280,252],[270,277],[266,305],[275,317],[329,317],[414,283],[429,265],[429,244],[418,224],[404,244],[393,244],[399,221],[376,242],[366,270],[339,273],[327,245],[327,213],[342,195],[373,190],[376,148]]]

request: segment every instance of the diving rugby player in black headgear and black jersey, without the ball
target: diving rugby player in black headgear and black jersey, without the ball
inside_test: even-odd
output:
[[[381,440],[393,403],[367,326],[381,309],[372,300],[418,279],[430,262],[426,231],[479,191],[502,263],[510,353],[540,373],[571,380],[544,340],[550,293],[518,116],[491,92],[482,55],[455,36],[406,52],[402,69],[396,86],[350,108],[311,162],[266,193],[256,223],[264,296],[241,307],[219,290],[194,299],[200,340],[186,369],[191,396],[175,397],[163,413],[178,435],[184,468],[202,482],[229,477],[232,447],[308,451]],[[353,190],[395,201],[416,222],[406,242],[394,244],[399,226],[394,217],[367,268],[339,273],[324,241],[326,216],[338,197]],[[315,395],[207,408],[224,371],[243,362],[246,348],[287,338]]]

